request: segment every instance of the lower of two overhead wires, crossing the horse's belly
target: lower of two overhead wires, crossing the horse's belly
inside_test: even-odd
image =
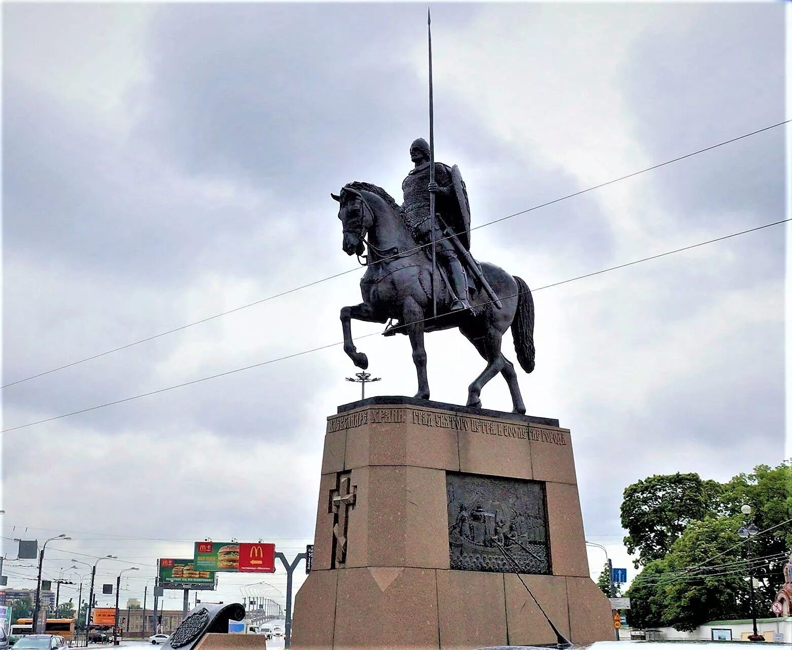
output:
[[[619,264],[618,266],[610,266],[607,269],[594,271],[592,273],[588,273],[588,274],[584,274],[584,275],[578,275],[575,278],[569,278],[569,279],[566,279],[566,280],[562,280],[561,282],[554,282],[553,284],[550,284],[550,285],[541,286],[541,287],[539,287],[537,289],[534,289],[533,293],[536,293],[537,291],[541,291],[542,289],[550,289],[551,287],[564,285],[564,284],[567,284],[568,282],[575,282],[576,280],[583,280],[584,278],[592,278],[595,275],[600,275],[600,274],[603,274],[603,273],[607,273],[608,271],[611,271],[611,270],[623,269],[626,266],[633,266],[634,264],[640,264],[642,262],[648,262],[649,260],[658,259],[658,258],[664,257],[666,255],[673,255],[674,253],[679,253],[679,252],[682,252],[682,251],[689,251],[692,248],[699,248],[700,246],[706,246],[706,244],[714,244],[715,242],[718,242],[718,241],[723,241],[723,240],[730,239],[732,237],[745,235],[745,234],[748,234],[748,232],[756,232],[757,230],[770,228],[771,226],[783,224],[783,223],[786,223],[787,221],[792,221],[792,218],[790,218],[790,219],[782,219],[781,221],[773,221],[772,223],[769,223],[769,224],[756,226],[756,228],[751,228],[751,229],[747,229],[747,230],[741,230],[740,232],[733,232],[733,233],[731,233],[729,235],[716,237],[715,239],[712,239],[712,240],[702,241],[702,242],[699,242],[698,244],[691,244],[690,246],[685,246],[683,248],[676,248],[673,251],[666,251],[666,252],[660,253],[658,255],[649,255],[649,257],[645,257],[645,258],[642,258],[642,259],[636,259],[636,260],[634,260],[632,262]],[[513,297],[517,297],[519,295],[520,295],[520,293],[518,292],[518,293],[512,294],[511,296],[501,296],[501,299],[513,298]],[[489,301],[489,302],[491,302],[491,301]],[[481,307],[481,306],[483,306],[485,304],[489,304],[489,302],[482,303],[482,304],[480,304],[478,306]],[[434,319],[434,316],[430,316],[430,317],[425,318],[425,319],[417,320],[417,321],[415,321],[413,323],[405,323],[405,326],[406,325],[414,325],[416,323],[425,323],[426,321],[432,320],[432,319]],[[402,327],[405,327],[405,326],[402,326]],[[375,335],[380,334],[380,333],[381,332],[379,332],[379,331],[375,331],[375,332],[371,332],[370,334],[361,334],[360,336],[356,337],[356,340],[360,340],[362,338],[368,338],[370,336],[375,336]],[[164,393],[166,391],[172,391],[175,388],[183,388],[185,386],[192,386],[193,384],[200,384],[201,382],[204,382],[204,381],[218,379],[219,377],[223,377],[223,376],[233,375],[236,372],[243,372],[245,370],[251,370],[253,368],[261,368],[261,366],[269,365],[269,364],[272,364],[272,363],[276,363],[277,361],[286,361],[287,359],[293,359],[295,357],[302,357],[305,354],[318,352],[320,350],[327,350],[329,348],[332,348],[332,347],[335,347],[335,346],[341,346],[343,344],[344,344],[343,341],[337,341],[337,342],[334,342],[334,343],[327,343],[324,346],[317,346],[317,347],[314,347],[314,348],[310,348],[310,350],[302,350],[300,352],[286,354],[283,357],[275,357],[273,359],[268,359],[267,361],[260,361],[257,364],[246,365],[246,366],[243,366],[242,368],[235,368],[234,370],[227,370],[226,372],[218,372],[215,375],[210,375],[210,376],[207,376],[207,377],[201,377],[200,379],[196,379],[196,380],[185,381],[185,382],[182,382],[181,384],[175,384],[173,386],[168,386],[168,387],[165,387],[165,388],[158,388],[158,390],[156,390],[156,391],[149,391],[147,393],[141,393],[139,395],[132,395],[131,397],[125,397],[124,399],[116,399],[116,400],[114,400],[112,402],[105,402],[104,404],[98,404],[97,406],[90,406],[89,408],[86,408],[86,409],[80,409],[80,410],[71,411],[70,413],[65,413],[65,414],[61,414],[61,415],[55,415],[52,418],[45,418],[44,420],[37,420],[37,421],[33,421],[33,422],[28,422],[25,425],[18,425],[18,426],[10,427],[8,429],[2,429],[2,431],[0,431],[0,433],[8,433],[10,431],[16,431],[17,429],[25,429],[25,428],[27,428],[29,426],[41,425],[41,424],[44,424],[46,422],[59,420],[61,418],[70,418],[70,416],[72,416],[72,415],[79,415],[79,414],[82,414],[82,413],[89,413],[89,411],[102,409],[102,408],[105,408],[105,406],[115,406],[116,404],[123,404],[124,402],[131,402],[134,399],[141,399],[143,397],[150,397],[151,395],[158,395],[159,393]]]

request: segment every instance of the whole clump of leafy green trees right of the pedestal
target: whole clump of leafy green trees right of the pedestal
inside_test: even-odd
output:
[[[729,482],[698,474],[646,478],[625,489],[625,539],[638,552],[630,625],[692,630],[712,620],[751,618],[748,576],[756,580],[756,615],[770,614],[792,546],[792,468],[757,466]],[[743,505],[752,512],[745,516]],[[759,533],[737,531],[752,520]]]

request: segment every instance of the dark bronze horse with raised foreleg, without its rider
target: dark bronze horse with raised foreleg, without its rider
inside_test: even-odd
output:
[[[340,195],[338,218],[344,229],[342,248],[347,255],[367,252],[367,269],[360,280],[363,302],[341,309],[344,351],[358,368],[368,367],[368,358],[352,342],[351,320],[385,323],[398,319],[395,330],[406,333],[413,347],[418,373],[418,399],[429,399],[424,334],[459,327],[485,358],[486,368],[476,377],[467,394],[467,406],[480,408],[484,385],[498,372],[512,394],[513,413],[525,413],[514,365],[501,352],[503,334],[512,327],[517,361],[525,372],[534,369],[534,302],[525,282],[494,264],[480,268],[500,298],[497,308],[482,291],[471,293],[471,310],[449,312],[453,296],[447,282],[436,282],[437,316],[432,315],[431,251],[417,246],[402,217],[402,209],[381,187],[371,183],[348,183]]]

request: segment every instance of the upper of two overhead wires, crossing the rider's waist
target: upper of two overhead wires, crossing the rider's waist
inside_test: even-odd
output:
[[[619,176],[619,178],[608,180],[608,181],[606,181],[604,183],[600,183],[598,185],[593,185],[592,187],[587,187],[584,190],[573,192],[572,194],[568,194],[568,195],[562,196],[560,198],[554,198],[552,201],[547,201],[547,202],[539,204],[538,206],[533,206],[533,207],[527,208],[527,210],[520,210],[520,212],[515,212],[513,214],[508,214],[505,217],[500,217],[498,219],[493,219],[493,221],[487,221],[487,222],[483,223],[482,225],[477,225],[476,227],[471,228],[470,231],[482,229],[482,228],[485,228],[486,226],[497,224],[497,223],[500,223],[501,221],[506,221],[507,219],[511,219],[512,217],[519,217],[522,214],[527,214],[529,212],[533,212],[534,210],[539,210],[540,208],[543,208],[543,207],[546,207],[546,206],[551,206],[554,203],[565,201],[568,198],[573,198],[573,197],[576,197],[576,196],[584,195],[584,194],[586,194],[588,192],[591,192],[591,191],[594,191],[594,190],[598,190],[601,187],[607,187],[608,185],[612,185],[613,183],[619,183],[619,181],[627,180],[627,179],[633,178],[634,176],[639,176],[640,174],[645,174],[646,172],[651,172],[654,169],[658,169],[658,168],[664,167],[665,165],[668,165],[668,164],[672,164],[672,163],[675,163],[675,162],[683,161],[686,158],[697,156],[699,153],[705,153],[706,151],[711,151],[712,149],[718,149],[718,147],[722,147],[724,145],[732,144],[733,142],[737,142],[737,141],[742,140],[744,138],[750,138],[753,135],[763,133],[763,131],[775,129],[776,127],[781,127],[784,124],[787,124],[787,123],[790,123],[790,122],[792,122],[792,119],[786,119],[783,122],[771,124],[771,126],[769,126],[769,127],[763,127],[761,129],[757,129],[757,130],[751,131],[750,133],[739,135],[739,136],[737,136],[737,138],[731,138],[731,139],[725,140],[723,142],[718,142],[718,144],[710,145],[710,146],[705,147],[703,149],[697,149],[696,151],[693,151],[691,153],[686,153],[683,156],[672,158],[669,161],[664,161],[664,162],[661,162],[659,164],[653,164],[651,167],[640,169],[640,170],[638,170],[638,172],[631,172],[630,174],[626,174],[625,176]],[[443,240],[445,240],[445,239],[449,239],[449,237],[444,237]],[[442,240],[440,240],[440,241],[442,241]],[[405,251],[405,252],[409,253],[409,252],[413,252],[413,251],[420,251],[422,248],[425,248],[425,247],[431,246],[431,245],[432,245],[432,243],[423,244],[421,246],[417,246],[416,248],[410,249],[409,251]],[[402,253],[401,255],[403,255],[403,254],[404,253]],[[381,260],[379,260],[378,263],[387,262],[389,259],[391,259],[391,257],[394,257],[394,256],[396,256],[396,255],[391,255],[390,257],[386,257],[384,259],[381,259]],[[226,312],[220,312],[219,314],[215,314],[214,316],[207,316],[206,318],[203,318],[203,319],[200,319],[200,320],[196,320],[196,321],[194,321],[192,323],[187,323],[186,325],[181,325],[179,327],[173,327],[172,329],[166,330],[164,332],[160,332],[159,334],[153,334],[153,335],[148,336],[146,338],[141,338],[139,341],[127,343],[124,346],[118,346],[116,348],[113,348],[112,350],[106,350],[105,352],[101,352],[101,353],[98,353],[98,354],[93,354],[90,357],[85,357],[83,359],[79,359],[78,361],[71,361],[70,363],[67,363],[67,364],[64,364],[64,365],[60,365],[57,368],[51,368],[50,370],[46,370],[44,372],[38,372],[35,375],[31,375],[31,376],[25,377],[24,379],[12,381],[9,384],[3,384],[2,386],[0,386],[0,389],[8,388],[8,387],[11,387],[11,386],[16,386],[17,384],[22,384],[25,381],[34,380],[34,379],[37,379],[38,377],[42,377],[44,375],[49,375],[52,372],[58,372],[59,370],[64,370],[66,368],[71,368],[74,365],[79,365],[79,364],[85,363],[86,361],[93,361],[93,359],[98,359],[99,357],[105,357],[108,354],[112,354],[112,353],[115,353],[115,352],[120,352],[120,350],[127,350],[128,348],[131,348],[133,346],[138,346],[141,343],[146,343],[146,342],[149,342],[149,341],[153,341],[155,338],[160,338],[162,336],[166,336],[167,334],[174,334],[175,332],[185,330],[188,327],[193,327],[194,325],[200,325],[201,323],[207,323],[208,321],[216,319],[216,318],[220,318],[221,316],[228,316],[229,314],[233,314],[234,312],[239,312],[242,309],[246,309],[246,308],[249,308],[249,307],[254,307],[257,304],[262,304],[262,303],[268,302],[268,300],[274,300],[275,298],[284,297],[284,296],[287,296],[290,293],[295,293],[296,291],[300,291],[301,289],[307,289],[307,288],[309,288],[311,286],[321,284],[322,282],[327,282],[327,281],[333,280],[335,278],[340,278],[342,275],[346,275],[346,274],[352,273],[352,272],[354,272],[354,271],[356,271],[358,269],[359,269],[359,267],[356,266],[354,268],[351,268],[351,269],[348,269],[348,270],[345,270],[345,271],[341,271],[341,272],[333,274],[333,275],[329,275],[326,278],[320,278],[318,280],[314,280],[313,282],[307,282],[307,284],[299,285],[299,286],[296,286],[296,287],[294,287],[292,289],[287,289],[286,291],[281,291],[280,293],[274,293],[274,294],[272,294],[272,296],[261,298],[261,300],[254,300],[251,303],[243,304],[243,305],[241,305],[239,307],[235,307],[233,309],[229,309]]]

